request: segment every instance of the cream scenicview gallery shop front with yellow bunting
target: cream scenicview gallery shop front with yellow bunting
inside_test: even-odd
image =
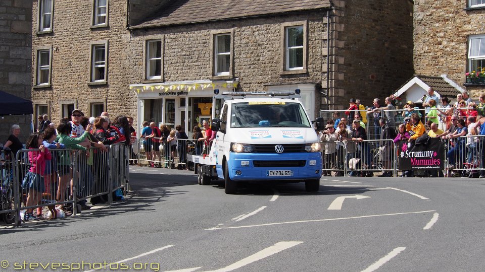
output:
[[[143,121],[155,122],[170,129],[181,125],[191,137],[193,127],[202,121],[219,117],[220,99],[214,99],[214,90],[233,91],[238,82],[184,81],[158,84],[133,84],[130,90],[137,95],[137,134]]]

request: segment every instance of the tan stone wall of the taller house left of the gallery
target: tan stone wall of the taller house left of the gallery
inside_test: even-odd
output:
[[[37,1],[34,1],[37,11]],[[61,102],[74,100],[77,108],[86,115],[91,102],[105,100],[111,116],[136,116],[136,99],[129,93],[132,62],[129,59],[130,35],[126,29],[127,5],[125,1],[109,2],[109,26],[90,28],[92,6],[77,1],[56,1],[54,5],[53,33],[32,37],[32,59],[36,48],[51,45],[51,88],[32,89],[34,103],[47,102],[54,122],[61,117]],[[37,14],[33,13],[33,29],[37,27]],[[108,73],[105,85],[88,85],[89,54],[92,41],[108,41]],[[34,61],[34,60],[32,60]]]

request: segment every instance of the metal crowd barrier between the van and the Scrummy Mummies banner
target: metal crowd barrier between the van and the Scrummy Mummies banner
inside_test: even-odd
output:
[[[392,171],[397,176],[397,147],[393,140],[322,141],[323,175],[362,176]],[[330,145],[328,145],[330,144]],[[332,173],[333,172],[333,173]]]

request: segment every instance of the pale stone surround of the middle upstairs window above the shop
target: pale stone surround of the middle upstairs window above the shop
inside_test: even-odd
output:
[[[220,29],[220,30],[215,30],[211,31],[211,53],[210,53],[210,58],[211,58],[211,65],[210,65],[210,79],[211,80],[223,80],[223,79],[232,79],[234,78],[234,29]],[[216,73],[216,47],[217,47],[217,37],[220,36],[225,36],[225,35],[230,35],[230,52],[229,52],[229,72],[224,72],[224,73]],[[226,53],[225,53],[226,54]]]

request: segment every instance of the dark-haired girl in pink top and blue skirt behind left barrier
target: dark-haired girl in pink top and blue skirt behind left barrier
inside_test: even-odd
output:
[[[51,160],[51,152],[42,145],[42,137],[39,133],[30,134],[27,141],[28,149],[35,149],[35,151],[29,151],[29,162],[31,167],[24,180],[22,181],[22,188],[27,191],[27,201],[25,206],[33,206],[39,203],[44,191],[44,171],[45,160]],[[37,150],[38,149],[38,150]],[[32,215],[32,209],[27,209],[24,213],[23,220],[38,220],[37,216]]]

